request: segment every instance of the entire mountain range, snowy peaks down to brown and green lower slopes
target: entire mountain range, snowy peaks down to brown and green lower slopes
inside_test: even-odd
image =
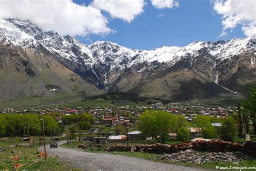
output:
[[[146,42],[145,42],[146,43]],[[71,95],[128,91],[176,101],[246,95],[256,83],[256,35],[150,51],[84,45],[29,21],[0,20],[0,100],[46,88]]]

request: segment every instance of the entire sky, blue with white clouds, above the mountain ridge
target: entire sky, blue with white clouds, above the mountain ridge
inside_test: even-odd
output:
[[[0,18],[28,19],[84,44],[103,40],[151,50],[250,37],[255,6],[256,0],[19,0],[2,1]]]

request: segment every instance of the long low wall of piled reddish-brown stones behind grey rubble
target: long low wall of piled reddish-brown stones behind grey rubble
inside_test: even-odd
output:
[[[154,153],[154,154],[172,154],[179,151],[186,151],[187,149],[192,149],[194,151],[206,151],[206,152],[242,152],[247,155],[256,154],[256,142],[246,142],[246,143],[236,143],[227,142],[221,140],[212,141],[195,141],[195,142],[185,142],[177,143],[174,145],[165,145],[161,143],[156,143],[153,145],[118,145],[113,147],[106,147],[105,151],[113,152],[144,152],[144,153]]]

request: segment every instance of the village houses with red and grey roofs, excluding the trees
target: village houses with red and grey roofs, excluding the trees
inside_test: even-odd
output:
[[[122,125],[125,127],[127,135],[114,135],[113,132],[100,132],[99,129],[93,129],[90,134],[97,135],[97,137],[91,137],[86,133],[78,133],[78,139],[81,137],[84,140],[94,140],[95,143],[105,144],[109,142],[123,142],[127,141],[136,141],[142,142],[149,140],[150,138],[145,138],[140,135],[142,132],[136,130],[136,124],[138,122],[138,117],[147,110],[154,111],[166,111],[174,115],[180,115],[186,119],[187,122],[192,122],[193,119],[196,119],[197,115],[206,115],[213,118],[225,118],[232,116],[237,112],[237,107],[234,106],[213,106],[205,104],[188,104],[188,103],[170,103],[168,105],[163,105],[162,103],[156,103],[151,105],[138,105],[138,106],[129,106],[129,102],[117,102],[117,105],[111,107],[99,107],[99,106],[88,106],[88,107],[77,107],[77,108],[45,108],[43,113],[45,115],[51,115],[57,113],[57,122],[59,125],[63,124],[62,117],[69,115],[77,115],[79,113],[89,113],[95,119],[93,126],[104,127],[111,131],[114,131],[114,127],[117,125]],[[2,110],[2,113],[41,113],[39,109],[24,110],[24,111],[14,111],[14,108],[5,108]],[[212,126],[217,128],[221,126],[219,122],[212,122]],[[105,131],[106,131],[105,129]],[[190,139],[201,138],[201,129],[191,126],[190,130]],[[88,131],[88,130],[87,130]],[[83,136],[82,136],[83,135]],[[86,135],[86,137],[84,136]],[[101,135],[101,137],[98,137]],[[102,136],[104,135],[104,136]],[[87,137],[88,136],[88,137]],[[106,137],[107,136],[107,137]],[[177,133],[169,133],[170,140],[177,139]]]

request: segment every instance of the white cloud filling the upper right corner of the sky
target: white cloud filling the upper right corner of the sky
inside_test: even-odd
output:
[[[221,23],[224,31],[242,25],[246,36],[256,33],[255,0],[214,0],[214,11],[223,15]]]

